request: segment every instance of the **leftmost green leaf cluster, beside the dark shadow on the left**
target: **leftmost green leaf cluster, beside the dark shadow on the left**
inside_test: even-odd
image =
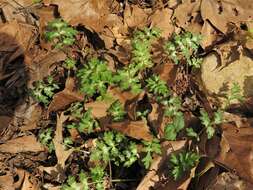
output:
[[[31,90],[31,95],[36,101],[48,105],[57,89],[59,86],[54,82],[53,77],[49,76],[46,82],[36,81],[35,87]]]

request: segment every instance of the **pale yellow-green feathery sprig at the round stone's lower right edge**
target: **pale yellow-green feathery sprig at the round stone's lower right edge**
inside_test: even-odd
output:
[[[235,101],[242,102],[244,100],[243,95],[241,94],[241,87],[239,83],[234,82],[230,91],[226,94],[225,108],[231,105]]]

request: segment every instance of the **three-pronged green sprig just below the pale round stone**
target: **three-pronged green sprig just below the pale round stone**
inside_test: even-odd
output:
[[[223,112],[221,110],[218,110],[214,113],[213,119],[210,119],[208,116],[208,113],[204,110],[200,111],[201,117],[201,123],[206,128],[207,138],[211,139],[215,133],[215,125],[219,125],[223,122]]]

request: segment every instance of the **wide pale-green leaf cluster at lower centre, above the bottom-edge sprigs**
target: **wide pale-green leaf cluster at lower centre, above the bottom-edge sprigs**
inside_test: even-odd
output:
[[[123,163],[123,166],[130,167],[138,159],[137,145],[121,133],[105,132],[96,141],[90,159],[105,163],[112,161],[115,165]]]

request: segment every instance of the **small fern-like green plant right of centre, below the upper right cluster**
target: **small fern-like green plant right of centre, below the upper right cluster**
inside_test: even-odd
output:
[[[152,76],[146,80],[148,91],[152,93],[157,101],[162,101],[169,97],[170,91],[166,82],[161,80],[159,76]]]

